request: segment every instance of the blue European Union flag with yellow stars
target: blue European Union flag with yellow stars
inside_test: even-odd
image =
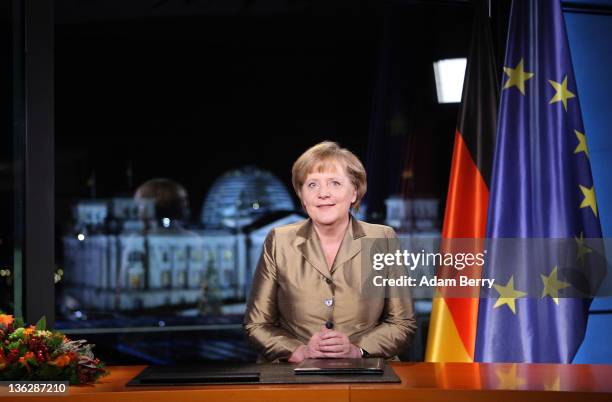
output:
[[[575,267],[552,246],[487,261],[496,282],[481,296],[476,360],[569,363],[591,303],[576,280],[596,254],[585,239],[601,227],[559,0],[512,2],[503,78],[487,237],[567,239]]]

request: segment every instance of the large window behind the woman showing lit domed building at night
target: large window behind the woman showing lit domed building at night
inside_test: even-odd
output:
[[[219,15],[162,1],[130,16],[120,0],[73,3],[55,2],[58,329],[161,322],[183,331],[166,344],[177,360],[254,360],[241,313],[267,231],[303,219],[290,177],[301,152],[330,138],[374,166],[373,222],[392,195],[446,194],[457,109],[437,104],[431,63],[467,53],[463,2],[261,0],[261,14],[238,2]],[[402,178],[408,160],[414,174]],[[87,205],[104,213],[79,231],[73,211]],[[83,256],[94,235],[105,244],[99,280]],[[146,341],[121,335],[114,350],[115,340],[92,339],[117,363],[158,356]]]

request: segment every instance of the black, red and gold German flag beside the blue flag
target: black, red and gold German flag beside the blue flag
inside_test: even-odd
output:
[[[482,239],[486,235],[498,88],[487,8],[484,1],[477,0],[474,2],[472,43],[455,132],[443,239]],[[470,274],[480,277],[478,270],[470,270]],[[473,296],[446,297],[444,289],[436,290],[426,361],[474,361],[478,300]]]

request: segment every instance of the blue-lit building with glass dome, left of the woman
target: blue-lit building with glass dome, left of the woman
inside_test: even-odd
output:
[[[294,209],[280,180],[251,166],[213,183],[196,223],[187,191],[169,179],[143,183],[132,198],[77,200],[62,237],[58,325],[236,331],[263,239],[303,219]]]

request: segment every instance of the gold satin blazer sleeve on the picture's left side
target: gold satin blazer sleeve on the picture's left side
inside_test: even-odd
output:
[[[268,361],[288,359],[297,347],[303,345],[289,331],[279,326],[274,237],[272,230],[264,241],[243,325],[248,341]]]

